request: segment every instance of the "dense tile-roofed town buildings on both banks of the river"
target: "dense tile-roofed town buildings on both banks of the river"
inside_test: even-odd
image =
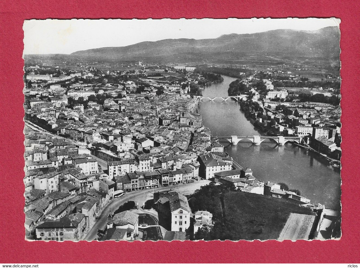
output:
[[[180,75],[174,69],[188,73]],[[201,89],[198,83],[203,77],[193,73],[195,67],[174,69],[161,76],[163,80],[154,76],[163,73],[162,69],[26,76],[33,82],[25,90],[24,103],[28,238],[83,239],[110,201],[127,192],[151,189],[157,212],[163,214],[170,224],[168,231],[173,232],[167,237],[185,239],[178,232],[189,232],[193,227],[195,234],[200,228],[211,228],[212,214],[197,211],[193,215],[185,196],[161,187],[200,179],[299,204],[310,202],[278,184],[256,179],[249,168],[235,166],[224,146],[212,140],[197,112],[200,100],[191,90]],[[144,73],[146,77],[135,76]],[[108,83],[105,75],[121,75],[124,80]],[[53,84],[68,77],[72,81],[68,86]],[[243,81],[249,85],[252,98],[248,112],[254,119],[276,134],[311,140],[321,152],[341,153],[336,146],[337,107],[284,101],[288,91],[274,88],[270,80],[264,81],[268,92],[260,98],[250,82]],[[242,99],[248,96],[243,94]],[[285,106],[281,111],[280,104]],[[134,240],[139,234],[139,215],[131,211],[110,213],[107,227],[101,231],[101,240]]]

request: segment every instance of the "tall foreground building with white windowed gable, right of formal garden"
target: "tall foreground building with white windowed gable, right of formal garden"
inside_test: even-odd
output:
[[[189,229],[192,213],[188,198],[176,191],[155,192],[154,203],[156,211],[171,222],[171,231],[185,232]]]

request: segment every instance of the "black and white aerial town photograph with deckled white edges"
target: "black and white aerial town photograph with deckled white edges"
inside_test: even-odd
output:
[[[340,23],[24,21],[24,239],[341,239]]]

